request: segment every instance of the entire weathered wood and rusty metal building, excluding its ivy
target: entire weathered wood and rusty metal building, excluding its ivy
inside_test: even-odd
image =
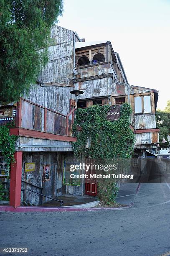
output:
[[[10,133],[18,136],[16,163],[10,172],[13,207],[18,207],[20,200],[37,205],[50,200],[30,190],[48,197],[86,192],[83,183],[66,182],[72,142],[76,141],[72,136],[75,99],[71,90],[84,91],[79,96],[79,108],[129,102],[136,155],[144,157],[146,149],[156,148],[159,142],[155,121],[158,91],[128,84],[119,54],[110,41],[85,42],[75,32],[59,26],[53,26],[51,37],[48,64],[29,94],[17,105],[0,106],[2,113],[4,108],[16,110],[14,116],[10,112],[0,117],[1,125],[15,120]]]

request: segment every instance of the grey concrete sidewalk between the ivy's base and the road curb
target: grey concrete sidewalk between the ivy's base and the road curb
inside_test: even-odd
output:
[[[124,183],[119,188],[116,202],[121,205],[131,205],[136,197],[139,183]]]

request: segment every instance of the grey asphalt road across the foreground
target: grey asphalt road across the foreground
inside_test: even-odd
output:
[[[170,185],[141,184],[125,210],[0,212],[0,236],[20,255],[157,256],[170,251]]]

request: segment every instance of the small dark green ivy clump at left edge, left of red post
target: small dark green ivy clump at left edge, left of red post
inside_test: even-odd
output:
[[[15,143],[17,136],[10,135],[10,129],[8,126],[0,126],[0,152],[4,156],[9,168],[10,163],[14,162]]]

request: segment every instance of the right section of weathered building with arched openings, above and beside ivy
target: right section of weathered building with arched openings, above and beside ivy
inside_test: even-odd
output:
[[[155,111],[158,91],[129,85],[119,54],[110,41],[77,42],[75,44],[76,90],[83,90],[78,106],[117,105],[129,102],[132,107],[132,128],[135,133],[135,154],[145,156],[146,149],[157,148],[159,129]]]

